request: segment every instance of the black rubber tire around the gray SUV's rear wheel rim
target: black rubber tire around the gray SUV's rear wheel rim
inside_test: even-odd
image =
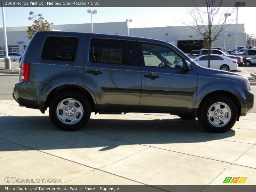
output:
[[[62,123],[59,120],[59,118],[57,117],[57,113],[56,113],[56,109],[57,109],[57,106],[59,105],[60,101],[62,101],[64,99],[68,99],[68,98],[78,100],[81,103],[81,105],[83,106],[83,110],[84,110],[84,114],[81,117],[80,121],[78,121],[76,124],[72,124],[72,125]],[[49,115],[52,120],[52,123],[56,127],[60,128],[64,131],[76,131],[78,129],[81,129],[90,119],[91,105],[90,105],[89,101],[87,100],[87,98],[80,92],[74,92],[74,91],[60,92],[52,100],[52,103],[51,103],[50,109],[49,109]]]

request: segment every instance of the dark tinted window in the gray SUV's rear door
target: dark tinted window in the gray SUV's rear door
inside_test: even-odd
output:
[[[90,61],[94,63],[133,64],[132,42],[112,39],[92,39]]]

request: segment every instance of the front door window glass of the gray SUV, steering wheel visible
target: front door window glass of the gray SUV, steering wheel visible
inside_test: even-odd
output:
[[[141,43],[141,49],[145,66],[183,69],[182,58],[169,47],[159,44]]]

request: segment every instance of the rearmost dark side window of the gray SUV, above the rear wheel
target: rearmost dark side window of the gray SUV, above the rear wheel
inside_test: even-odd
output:
[[[47,37],[44,43],[42,59],[73,61],[76,57],[77,37]]]

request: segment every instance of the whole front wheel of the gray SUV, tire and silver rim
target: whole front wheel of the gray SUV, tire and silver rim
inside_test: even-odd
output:
[[[230,98],[224,95],[212,95],[200,104],[197,118],[207,131],[226,132],[236,123],[237,114],[236,104]]]

